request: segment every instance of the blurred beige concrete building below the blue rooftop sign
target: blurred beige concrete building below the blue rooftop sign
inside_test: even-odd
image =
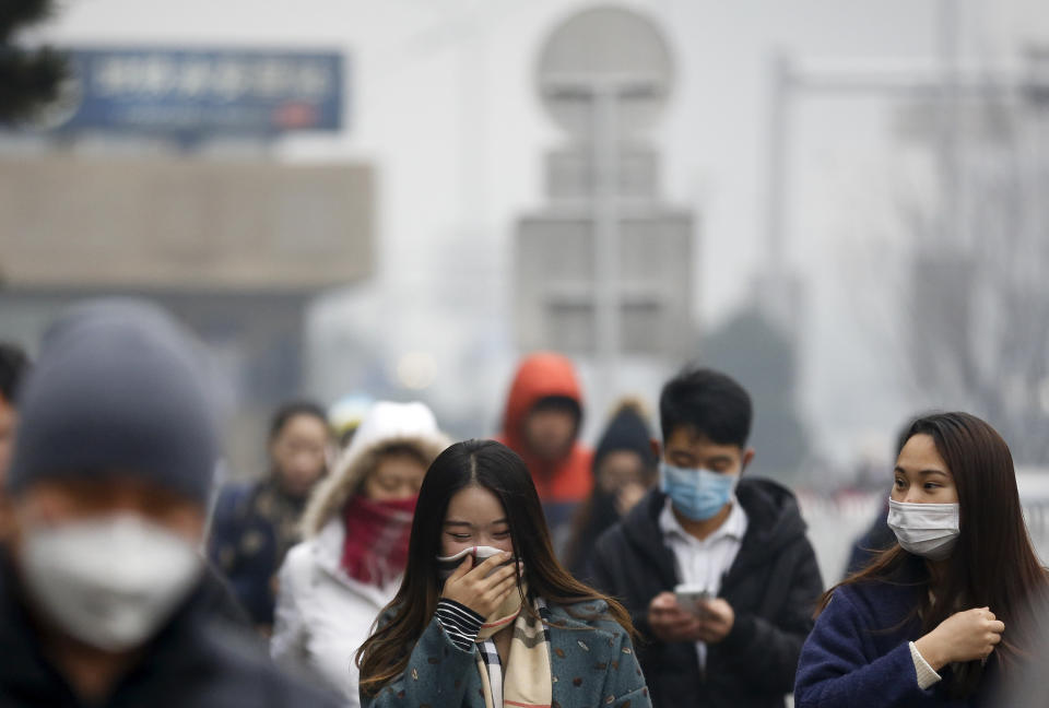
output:
[[[32,345],[69,303],[152,298],[216,363],[235,474],[258,473],[264,421],[302,391],[304,315],[373,272],[366,165],[0,157],[0,321]]]

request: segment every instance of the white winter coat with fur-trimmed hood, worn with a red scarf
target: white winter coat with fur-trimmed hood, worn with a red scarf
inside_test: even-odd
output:
[[[346,706],[360,705],[354,653],[393,599],[400,578],[379,588],[346,575],[342,509],[374,469],[376,453],[394,444],[411,445],[432,461],[448,440],[422,403],[376,403],[334,473],[310,496],[303,520],[306,540],[288,551],[279,576],[270,653],[279,664],[316,675],[345,696]]]

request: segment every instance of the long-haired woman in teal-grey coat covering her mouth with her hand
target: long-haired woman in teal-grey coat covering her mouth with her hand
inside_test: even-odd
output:
[[[632,634],[557,563],[521,459],[457,442],[423,480],[404,580],[357,653],[361,701],[644,708]]]

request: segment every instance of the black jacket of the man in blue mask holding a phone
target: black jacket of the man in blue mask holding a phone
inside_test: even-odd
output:
[[[723,641],[708,646],[705,674],[694,644],[656,641],[648,625],[652,598],[679,583],[659,528],[665,495],[652,491],[598,540],[592,577],[626,605],[641,634],[638,659],[656,708],[781,707],[793,688],[823,591],[820,568],[793,494],[769,480],[743,477],[736,496],[749,524],[721,583],[735,624]]]

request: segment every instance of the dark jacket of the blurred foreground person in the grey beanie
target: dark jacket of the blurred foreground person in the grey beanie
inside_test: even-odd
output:
[[[44,656],[11,566],[0,563],[0,708],[334,708],[281,674],[259,642],[223,618],[207,576],[103,703],[80,699]]]

